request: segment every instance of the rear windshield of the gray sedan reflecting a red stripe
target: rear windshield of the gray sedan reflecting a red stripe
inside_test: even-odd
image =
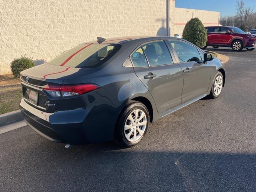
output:
[[[120,44],[108,43],[80,44],[49,61],[48,64],[77,68],[94,68],[102,65],[106,60],[111,58],[120,47]]]

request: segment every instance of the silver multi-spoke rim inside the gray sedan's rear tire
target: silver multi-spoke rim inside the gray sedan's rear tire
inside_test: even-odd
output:
[[[147,126],[147,118],[144,111],[133,110],[126,118],[124,135],[130,142],[138,141],[144,134]]]

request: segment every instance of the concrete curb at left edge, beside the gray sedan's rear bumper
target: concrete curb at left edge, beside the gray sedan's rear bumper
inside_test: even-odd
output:
[[[11,124],[11,123],[15,123],[21,120],[24,120],[24,116],[22,115],[20,110],[8,112],[0,115],[0,127]]]

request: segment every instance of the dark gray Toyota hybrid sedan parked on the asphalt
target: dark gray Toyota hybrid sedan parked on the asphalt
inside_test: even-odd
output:
[[[20,109],[28,126],[51,141],[129,147],[149,122],[217,98],[225,78],[218,58],[180,38],[98,38],[22,71]]]

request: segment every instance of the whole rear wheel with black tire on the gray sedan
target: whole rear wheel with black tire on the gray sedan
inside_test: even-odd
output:
[[[114,141],[122,147],[132,147],[145,136],[148,124],[149,112],[146,106],[141,102],[129,101],[118,118]]]

